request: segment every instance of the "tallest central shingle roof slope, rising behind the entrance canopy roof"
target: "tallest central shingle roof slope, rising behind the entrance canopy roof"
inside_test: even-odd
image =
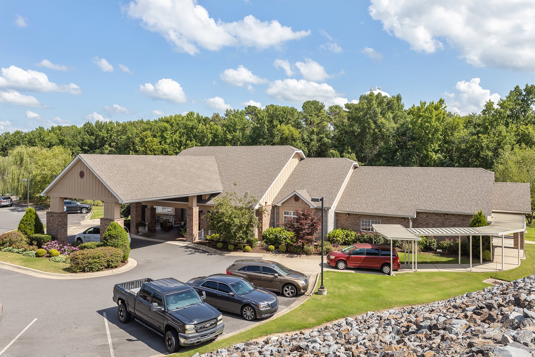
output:
[[[197,146],[182,150],[179,157],[215,157],[224,191],[235,188],[238,196],[249,192],[260,200],[295,151],[300,150],[292,146]],[[214,196],[198,203],[213,203]]]

